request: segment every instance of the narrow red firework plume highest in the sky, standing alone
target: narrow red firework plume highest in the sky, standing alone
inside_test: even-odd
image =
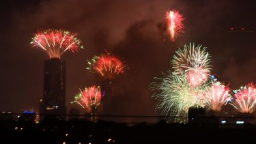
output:
[[[183,31],[183,23],[184,20],[183,16],[178,11],[169,11],[166,12],[166,20],[167,20],[167,27],[169,33],[171,35],[171,40],[175,41],[175,37],[180,33],[184,33]]]

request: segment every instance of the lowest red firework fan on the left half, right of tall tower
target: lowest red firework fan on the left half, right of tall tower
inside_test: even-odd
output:
[[[97,107],[100,104],[100,100],[100,87],[96,87],[95,85],[85,87],[84,90],[80,89],[80,93],[74,97],[74,102],[82,106],[84,109],[87,109],[89,112],[91,112],[92,106]]]

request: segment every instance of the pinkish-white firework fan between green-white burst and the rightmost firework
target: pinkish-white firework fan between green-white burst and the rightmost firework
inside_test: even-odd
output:
[[[231,100],[230,89],[220,82],[212,82],[212,86],[203,95],[203,99],[212,111],[221,111],[222,106]]]

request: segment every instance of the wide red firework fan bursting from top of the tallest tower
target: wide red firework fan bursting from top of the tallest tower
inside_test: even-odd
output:
[[[42,48],[50,58],[60,58],[67,50],[74,53],[79,48],[83,48],[81,41],[76,38],[76,34],[69,31],[48,29],[36,33],[34,36],[31,44]]]

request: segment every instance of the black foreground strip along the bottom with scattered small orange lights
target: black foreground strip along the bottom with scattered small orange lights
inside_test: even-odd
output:
[[[0,143],[244,143],[255,142],[251,124],[157,124],[113,121],[1,121]]]

